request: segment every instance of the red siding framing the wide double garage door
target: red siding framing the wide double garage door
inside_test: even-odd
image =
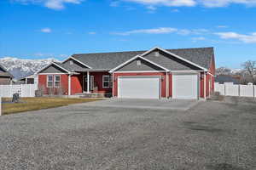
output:
[[[161,97],[166,97],[166,73],[164,72],[141,72],[141,73],[114,73],[113,74],[113,96],[118,96],[118,77],[119,76],[162,76],[161,80]]]

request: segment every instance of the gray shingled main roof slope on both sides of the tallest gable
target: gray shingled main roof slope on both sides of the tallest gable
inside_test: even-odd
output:
[[[213,48],[180,48],[166,50],[207,69],[210,67],[213,56]],[[85,65],[89,65],[92,69],[111,70],[128,59],[145,52],[146,51],[127,51],[115,53],[73,54],[73,58],[78,59]]]

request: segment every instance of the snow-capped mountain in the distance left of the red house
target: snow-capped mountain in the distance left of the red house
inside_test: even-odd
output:
[[[3,65],[16,79],[26,77],[40,70],[45,65],[49,65],[57,59],[18,59],[14,57],[0,58],[0,64]]]

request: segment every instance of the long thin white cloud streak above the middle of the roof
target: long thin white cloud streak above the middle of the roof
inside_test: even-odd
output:
[[[153,28],[153,29],[141,29],[141,30],[132,30],[132,31],[125,31],[125,32],[113,32],[112,34],[120,35],[120,36],[128,36],[131,34],[167,34],[176,32],[176,28],[171,27],[160,27],[160,28]]]

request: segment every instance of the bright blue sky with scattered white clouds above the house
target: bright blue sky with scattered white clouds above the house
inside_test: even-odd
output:
[[[256,0],[2,0],[0,57],[214,47],[217,66],[256,60]]]

